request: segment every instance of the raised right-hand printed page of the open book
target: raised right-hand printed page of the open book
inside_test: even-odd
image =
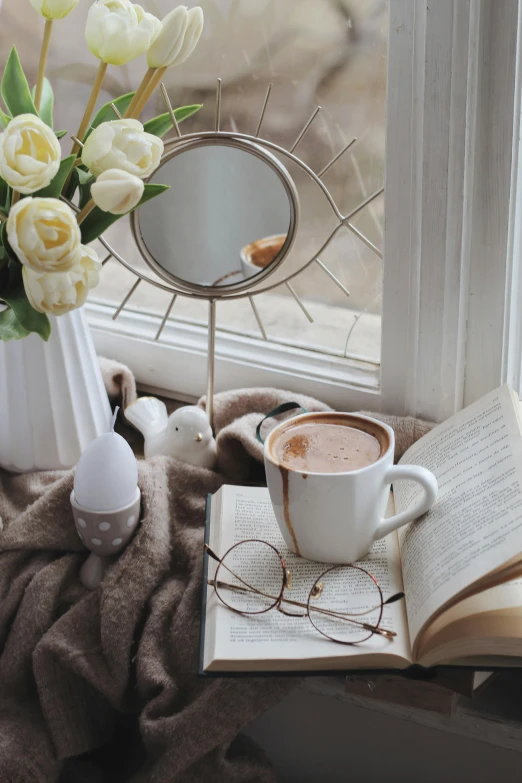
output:
[[[439,482],[435,507],[399,531],[412,642],[446,602],[522,553],[522,437],[508,386],[439,425],[401,459]],[[394,485],[398,511],[421,494]]]

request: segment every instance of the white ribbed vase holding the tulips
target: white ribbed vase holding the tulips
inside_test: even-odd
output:
[[[0,342],[0,467],[61,470],[110,431],[111,409],[83,308],[51,317],[45,343]]]

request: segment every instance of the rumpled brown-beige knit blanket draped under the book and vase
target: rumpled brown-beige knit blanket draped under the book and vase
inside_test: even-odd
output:
[[[126,368],[102,363],[109,393],[135,396]],[[248,480],[275,389],[216,398],[220,472],[167,457],[140,461],[143,516],[95,592],[72,522],[73,473],[0,471],[0,780],[2,783],[272,781],[240,729],[295,685],[197,675],[205,498]],[[397,456],[429,425],[382,417]]]

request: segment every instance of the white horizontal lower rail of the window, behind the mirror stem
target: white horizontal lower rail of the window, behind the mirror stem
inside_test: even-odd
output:
[[[205,393],[205,326],[172,319],[156,342],[160,315],[126,309],[115,322],[114,305],[89,302],[85,309],[97,352],[127,364],[140,386],[179,399]],[[216,391],[256,386],[291,389],[339,410],[380,407],[376,364],[219,330]]]

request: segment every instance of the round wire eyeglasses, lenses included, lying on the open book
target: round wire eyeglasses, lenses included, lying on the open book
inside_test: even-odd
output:
[[[313,583],[306,602],[285,596],[292,575],[281,553],[268,541],[240,541],[218,557],[213,579],[219,600],[233,612],[259,615],[276,609],[287,617],[308,617],[313,627],[332,642],[361,644],[374,634],[393,639],[397,634],[381,626],[384,607],[399,601],[404,593],[384,599],[375,577],[361,566],[336,565]],[[298,611],[304,610],[304,611]]]

